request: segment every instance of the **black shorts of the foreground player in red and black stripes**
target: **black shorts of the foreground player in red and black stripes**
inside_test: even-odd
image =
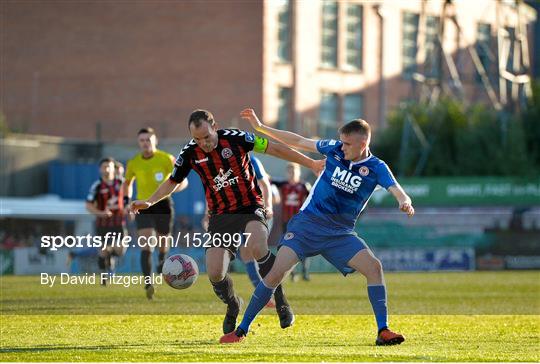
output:
[[[225,234],[231,236],[234,234],[242,234],[245,232],[246,225],[250,221],[260,221],[268,229],[266,223],[266,211],[264,208],[262,206],[249,206],[234,213],[210,216],[208,221],[208,232],[210,234],[219,234],[221,236]],[[218,239],[217,241],[219,240],[221,239]],[[219,248],[220,246],[213,244],[213,247]],[[236,253],[238,252],[238,246],[228,245],[223,248],[231,252],[231,258],[234,260]]]

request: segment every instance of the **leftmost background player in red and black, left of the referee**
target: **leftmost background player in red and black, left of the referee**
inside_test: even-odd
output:
[[[115,176],[115,160],[104,158],[99,162],[100,179],[90,187],[86,198],[86,209],[96,216],[96,235],[102,236],[110,233],[126,235],[124,219],[124,193],[122,180]],[[123,247],[107,246],[99,249],[98,266],[100,271],[112,272],[114,270],[114,257],[125,253]],[[101,284],[106,284],[102,280]]]

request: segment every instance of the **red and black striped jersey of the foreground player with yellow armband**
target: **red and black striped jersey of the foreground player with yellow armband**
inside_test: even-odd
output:
[[[263,197],[249,152],[256,145],[266,148],[268,141],[238,129],[217,132],[218,144],[210,153],[204,152],[194,140],[184,146],[170,179],[180,183],[193,169],[203,183],[210,215],[235,213],[249,206],[262,207]]]

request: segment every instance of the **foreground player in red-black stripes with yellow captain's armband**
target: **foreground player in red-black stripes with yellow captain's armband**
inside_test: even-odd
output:
[[[185,180],[193,169],[201,178],[206,191],[209,210],[208,231],[220,240],[226,234],[249,233],[247,241],[253,257],[259,263],[261,276],[271,269],[275,256],[268,250],[268,228],[263,197],[249,152],[270,155],[300,163],[314,171],[324,163],[314,161],[283,144],[269,143],[268,139],[237,129],[219,129],[213,115],[206,110],[195,110],[188,121],[193,139],[176,159],[171,177],[146,200],[134,201],[133,211],[146,209],[170,195],[177,184]],[[229,263],[238,247],[213,245],[206,250],[206,269],[216,295],[227,304],[223,332],[236,327],[241,301],[234,293],[228,274]],[[282,328],[294,322],[294,315],[281,286],[275,292],[276,310]]]

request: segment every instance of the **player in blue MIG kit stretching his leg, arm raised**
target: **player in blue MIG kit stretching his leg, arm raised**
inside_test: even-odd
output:
[[[268,127],[260,122],[252,109],[243,110],[240,116],[255,130],[292,148],[321,153],[326,157],[326,167],[300,212],[289,222],[276,261],[255,288],[242,322],[236,331],[224,335],[220,342],[242,341],[275,287],[300,260],[320,254],[343,275],[358,271],[366,277],[378,328],[376,345],[401,344],[405,340],[403,335],[388,327],[381,262],[356,235],[354,225],[377,186],[387,189],[398,201],[399,209],[409,217],[414,215],[414,208],[386,163],[371,154],[369,124],[356,119],[339,129],[340,140],[317,141]]]

